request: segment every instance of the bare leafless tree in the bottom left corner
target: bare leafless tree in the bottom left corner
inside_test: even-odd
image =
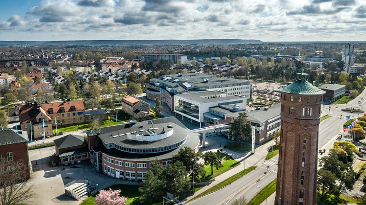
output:
[[[33,197],[33,187],[27,182],[27,166],[22,161],[0,160],[0,204],[24,204]]]

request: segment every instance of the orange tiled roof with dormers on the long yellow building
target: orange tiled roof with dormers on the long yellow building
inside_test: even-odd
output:
[[[75,106],[75,110],[72,110],[71,107]],[[61,113],[61,108],[63,107],[66,112],[72,111],[85,111],[84,103],[82,100],[75,100],[75,101],[67,101],[67,102],[55,102],[55,103],[44,103],[41,104],[41,107],[46,112],[52,108],[53,113]]]

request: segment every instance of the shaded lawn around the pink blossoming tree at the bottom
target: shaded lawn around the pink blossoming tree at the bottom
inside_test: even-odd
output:
[[[138,187],[136,185],[127,185],[127,184],[116,184],[112,185],[108,188],[112,188],[113,190],[120,189],[120,196],[128,197],[126,205],[129,205],[133,202],[133,200],[138,200],[140,198],[140,193],[138,192]],[[80,205],[94,205],[95,196],[88,197],[84,200]]]

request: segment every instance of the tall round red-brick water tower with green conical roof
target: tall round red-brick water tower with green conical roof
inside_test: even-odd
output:
[[[307,73],[280,89],[281,144],[275,205],[315,205],[322,91]]]

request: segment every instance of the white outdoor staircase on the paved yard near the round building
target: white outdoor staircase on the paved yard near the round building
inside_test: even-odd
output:
[[[75,180],[65,185],[65,194],[76,200],[89,194],[95,189],[94,184],[87,180]]]

